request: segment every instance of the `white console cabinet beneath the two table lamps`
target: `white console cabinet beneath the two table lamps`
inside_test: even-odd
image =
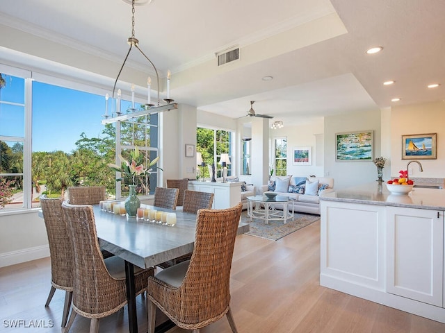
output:
[[[188,182],[188,189],[213,193],[214,210],[223,210],[234,207],[241,202],[241,182],[200,182],[191,180]]]

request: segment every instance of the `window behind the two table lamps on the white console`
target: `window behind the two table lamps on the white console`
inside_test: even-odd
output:
[[[227,130],[213,130],[210,128],[198,127],[196,130],[197,151],[202,155],[202,161],[211,166],[215,165],[215,177],[223,177],[223,167],[218,164],[221,154],[229,154],[231,164],[227,165],[227,176],[232,175],[232,165],[234,163],[232,156],[232,145],[234,135]],[[201,175],[211,177],[210,168],[202,168]]]

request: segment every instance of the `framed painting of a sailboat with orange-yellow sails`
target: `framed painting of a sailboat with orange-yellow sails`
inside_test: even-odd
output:
[[[402,160],[436,158],[436,133],[402,135]]]

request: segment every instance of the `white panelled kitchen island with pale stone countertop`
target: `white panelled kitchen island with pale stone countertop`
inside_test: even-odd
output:
[[[445,323],[445,189],[373,182],[320,199],[322,286]]]

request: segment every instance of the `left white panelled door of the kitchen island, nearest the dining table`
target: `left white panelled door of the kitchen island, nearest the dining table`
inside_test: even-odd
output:
[[[385,289],[385,207],[321,200],[323,277]]]

